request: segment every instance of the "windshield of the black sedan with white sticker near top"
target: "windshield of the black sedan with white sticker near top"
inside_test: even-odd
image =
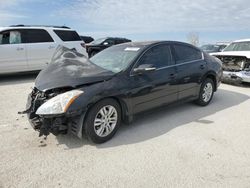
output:
[[[90,61],[101,68],[118,73],[125,70],[140,51],[140,47],[114,46],[96,54]]]

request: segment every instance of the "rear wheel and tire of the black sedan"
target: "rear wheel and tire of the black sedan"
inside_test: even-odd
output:
[[[214,82],[207,78],[203,81],[200,88],[199,98],[195,101],[200,106],[206,106],[210,103],[214,95]]]

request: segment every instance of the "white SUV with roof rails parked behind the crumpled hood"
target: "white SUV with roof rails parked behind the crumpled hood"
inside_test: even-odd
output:
[[[58,45],[88,57],[77,32],[65,26],[0,28],[0,74],[41,70],[50,63]]]

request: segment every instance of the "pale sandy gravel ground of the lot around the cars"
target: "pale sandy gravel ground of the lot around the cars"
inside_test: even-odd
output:
[[[139,116],[102,145],[38,137],[23,110],[33,75],[0,78],[0,187],[250,187],[250,88],[220,86]]]

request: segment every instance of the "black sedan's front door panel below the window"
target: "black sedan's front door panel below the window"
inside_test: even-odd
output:
[[[129,98],[133,113],[161,106],[177,100],[178,86],[175,67],[166,67],[144,75],[131,76]]]

